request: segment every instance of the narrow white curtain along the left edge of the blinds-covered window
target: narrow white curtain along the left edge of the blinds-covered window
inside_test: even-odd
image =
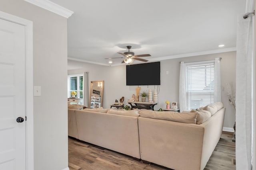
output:
[[[180,112],[186,109],[186,66],[180,62]]]

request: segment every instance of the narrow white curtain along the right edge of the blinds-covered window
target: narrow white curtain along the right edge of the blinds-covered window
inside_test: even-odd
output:
[[[221,102],[220,89],[220,58],[216,58],[214,63],[214,103]]]

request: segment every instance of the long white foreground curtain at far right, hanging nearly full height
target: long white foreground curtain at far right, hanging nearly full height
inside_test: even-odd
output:
[[[236,169],[252,168],[252,15],[238,16],[236,42]]]

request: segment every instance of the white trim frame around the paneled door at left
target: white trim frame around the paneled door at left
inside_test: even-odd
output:
[[[25,26],[26,170],[34,170],[33,22],[0,11],[0,19]]]

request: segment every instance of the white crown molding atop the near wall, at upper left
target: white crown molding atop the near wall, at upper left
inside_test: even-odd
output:
[[[50,12],[53,12],[65,18],[69,18],[72,14],[74,14],[74,12],[62,6],[59,6],[58,4],[55,4],[49,0],[24,0],[24,1],[34,4],[36,6],[39,6],[41,8],[44,8],[45,10],[48,10]]]

